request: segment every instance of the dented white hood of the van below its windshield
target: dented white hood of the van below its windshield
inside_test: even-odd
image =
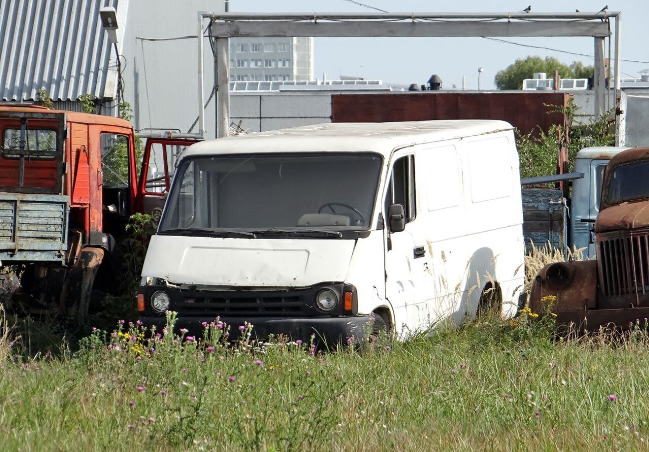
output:
[[[344,281],[355,240],[154,235],[142,277],[223,287],[307,287]]]

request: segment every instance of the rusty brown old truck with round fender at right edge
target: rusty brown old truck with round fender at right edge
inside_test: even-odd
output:
[[[594,223],[596,259],[557,262],[532,283],[530,307],[580,331],[649,318],[649,147],[615,155],[604,170]]]

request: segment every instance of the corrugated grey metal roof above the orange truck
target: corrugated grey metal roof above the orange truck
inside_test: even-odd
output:
[[[82,94],[112,99],[117,71],[99,21],[103,6],[117,0],[0,2],[0,99],[32,101],[42,88],[74,110]]]

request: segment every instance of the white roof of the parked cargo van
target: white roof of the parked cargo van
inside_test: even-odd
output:
[[[379,152],[511,130],[505,121],[458,119],[398,123],[326,123],[212,139],[196,143],[183,157],[257,152]]]

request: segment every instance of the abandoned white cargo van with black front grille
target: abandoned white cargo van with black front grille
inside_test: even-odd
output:
[[[259,339],[406,337],[523,285],[511,125],[330,123],[192,145],[142,270],[143,322],[200,330],[216,316]],[[480,304],[482,303],[482,305]]]

